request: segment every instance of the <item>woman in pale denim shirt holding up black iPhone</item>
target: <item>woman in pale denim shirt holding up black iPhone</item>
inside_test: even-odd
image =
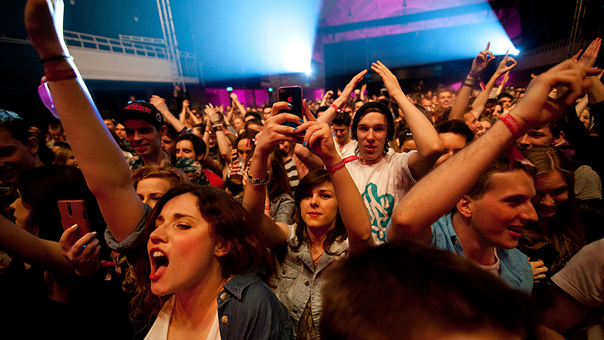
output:
[[[315,120],[306,102],[306,122],[302,124],[295,115],[278,113],[288,105],[275,103],[266,120],[248,168],[243,206],[257,218],[260,242],[274,251],[280,264],[275,292],[288,307],[296,338],[318,339],[323,271],[349,252],[373,246],[371,222],[344,166],[355,160],[342,161],[330,127]],[[300,125],[293,128],[283,125],[284,121]],[[306,156],[298,156],[306,158],[309,168],[312,164],[316,168],[300,180],[295,191],[296,223],[275,223],[265,207],[268,157],[281,141],[301,143],[302,139],[313,155],[306,150]]]

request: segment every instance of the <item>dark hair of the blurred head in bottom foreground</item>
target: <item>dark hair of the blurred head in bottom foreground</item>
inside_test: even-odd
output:
[[[336,261],[321,294],[319,330],[331,340],[426,339],[487,328],[525,338],[539,319],[533,301],[495,275],[416,243],[386,243]],[[384,311],[379,318],[376,310]]]

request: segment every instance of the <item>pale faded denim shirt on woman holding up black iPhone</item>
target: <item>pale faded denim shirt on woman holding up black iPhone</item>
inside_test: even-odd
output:
[[[294,321],[294,332],[298,330],[298,322],[300,322],[304,307],[310,298],[312,322],[318,330],[322,312],[321,274],[323,274],[323,269],[333,261],[348,254],[348,239],[334,242],[330,252],[336,255],[321,254],[315,268],[306,243],[302,243],[298,251],[292,251],[290,246],[297,244],[295,229],[296,225],[289,225],[288,250],[277,271],[278,281],[275,293],[289,310],[289,316]]]

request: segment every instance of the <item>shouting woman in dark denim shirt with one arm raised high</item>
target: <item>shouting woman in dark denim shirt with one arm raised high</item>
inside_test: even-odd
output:
[[[70,55],[62,43],[62,14],[62,1],[27,2],[26,27],[42,58]],[[249,237],[247,217],[237,213],[241,209],[237,210],[233,199],[212,188],[179,187],[160,199],[152,213],[134,190],[126,159],[101,120],[76,65],[61,59],[44,66],[49,72],[70,71],[72,78],[50,79],[48,86],[86,183],[107,222],[109,247],[125,253],[136,271],[144,272],[140,275],[149,274],[137,277],[147,286],[147,299],[139,301],[141,308],[133,313],[135,338],[290,339],[292,327],[283,304],[262,275],[250,268],[262,264],[263,256],[261,248],[250,248],[254,240]],[[147,117],[144,106],[139,109],[130,119],[136,119],[136,114],[155,119]],[[147,120],[137,122],[153,129]],[[148,260],[135,261],[141,257]]]

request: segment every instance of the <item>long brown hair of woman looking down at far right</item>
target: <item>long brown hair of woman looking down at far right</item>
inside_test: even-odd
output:
[[[547,230],[538,228],[536,223],[528,223],[520,239],[521,248],[528,249],[539,249],[549,243],[559,254],[549,270],[550,274],[555,274],[585,245],[583,226],[577,222],[574,204],[574,172],[567,158],[553,147],[533,147],[522,155],[535,165],[535,182],[539,181],[539,176],[553,172],[561,173],[567,182],[568,199],[550,217]]]

